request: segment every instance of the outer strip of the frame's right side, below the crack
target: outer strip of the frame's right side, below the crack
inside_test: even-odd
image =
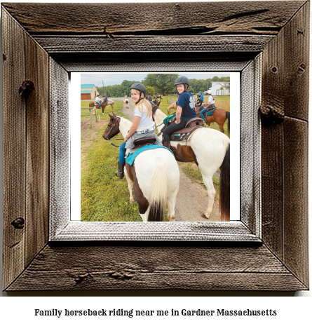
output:
[[[284,260],[308,285],[308,123],[284,121]]]

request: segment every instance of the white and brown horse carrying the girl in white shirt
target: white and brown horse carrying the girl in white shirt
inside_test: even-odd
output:
[[[119,132],[126,137],[132,122],[126,118],[111,116],[104,140],[110,140]],[[143,222],[163,221],[165,204],[168,205],[168,219],[175,221],[175,201],[179,191],[179,168],[177,161],[168,149],[142,151],[133,165],[126,163],[125,175],[133,203],[133,183],[135,199]]]

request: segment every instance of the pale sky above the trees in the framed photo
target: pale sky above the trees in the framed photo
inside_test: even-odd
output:
[[[120,85],[124,80],[127,81],[138,81],[141,82],[147,74],[151,73],[85,73],[81,74],[81,84],[94,84],[95,86],[109,86],[109,85]],[[158,72],[159,74],[159,72]],[[213,76],[218,77],[226,77],[230,76],[230,74],[221,74],[217,72],[210,73],[199,73],[199,72],[192,72],[192,73],[185,73],[185,72],[177,72],[179,76],[186,76],[189,79],[208,79],[212,78]]]

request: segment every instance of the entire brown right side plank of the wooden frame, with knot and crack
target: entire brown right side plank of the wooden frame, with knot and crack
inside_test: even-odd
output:
[[[308,10],[307,3],[264,50],[261,107],[274,116],[262,125],[263,240],[306,284]]]

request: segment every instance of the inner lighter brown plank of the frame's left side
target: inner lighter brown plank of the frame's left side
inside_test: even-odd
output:
[[[34,83],[26,103],[25,264],[48,241],[49,208],[49,69],[48,54],[25,36],[25,80]]]

